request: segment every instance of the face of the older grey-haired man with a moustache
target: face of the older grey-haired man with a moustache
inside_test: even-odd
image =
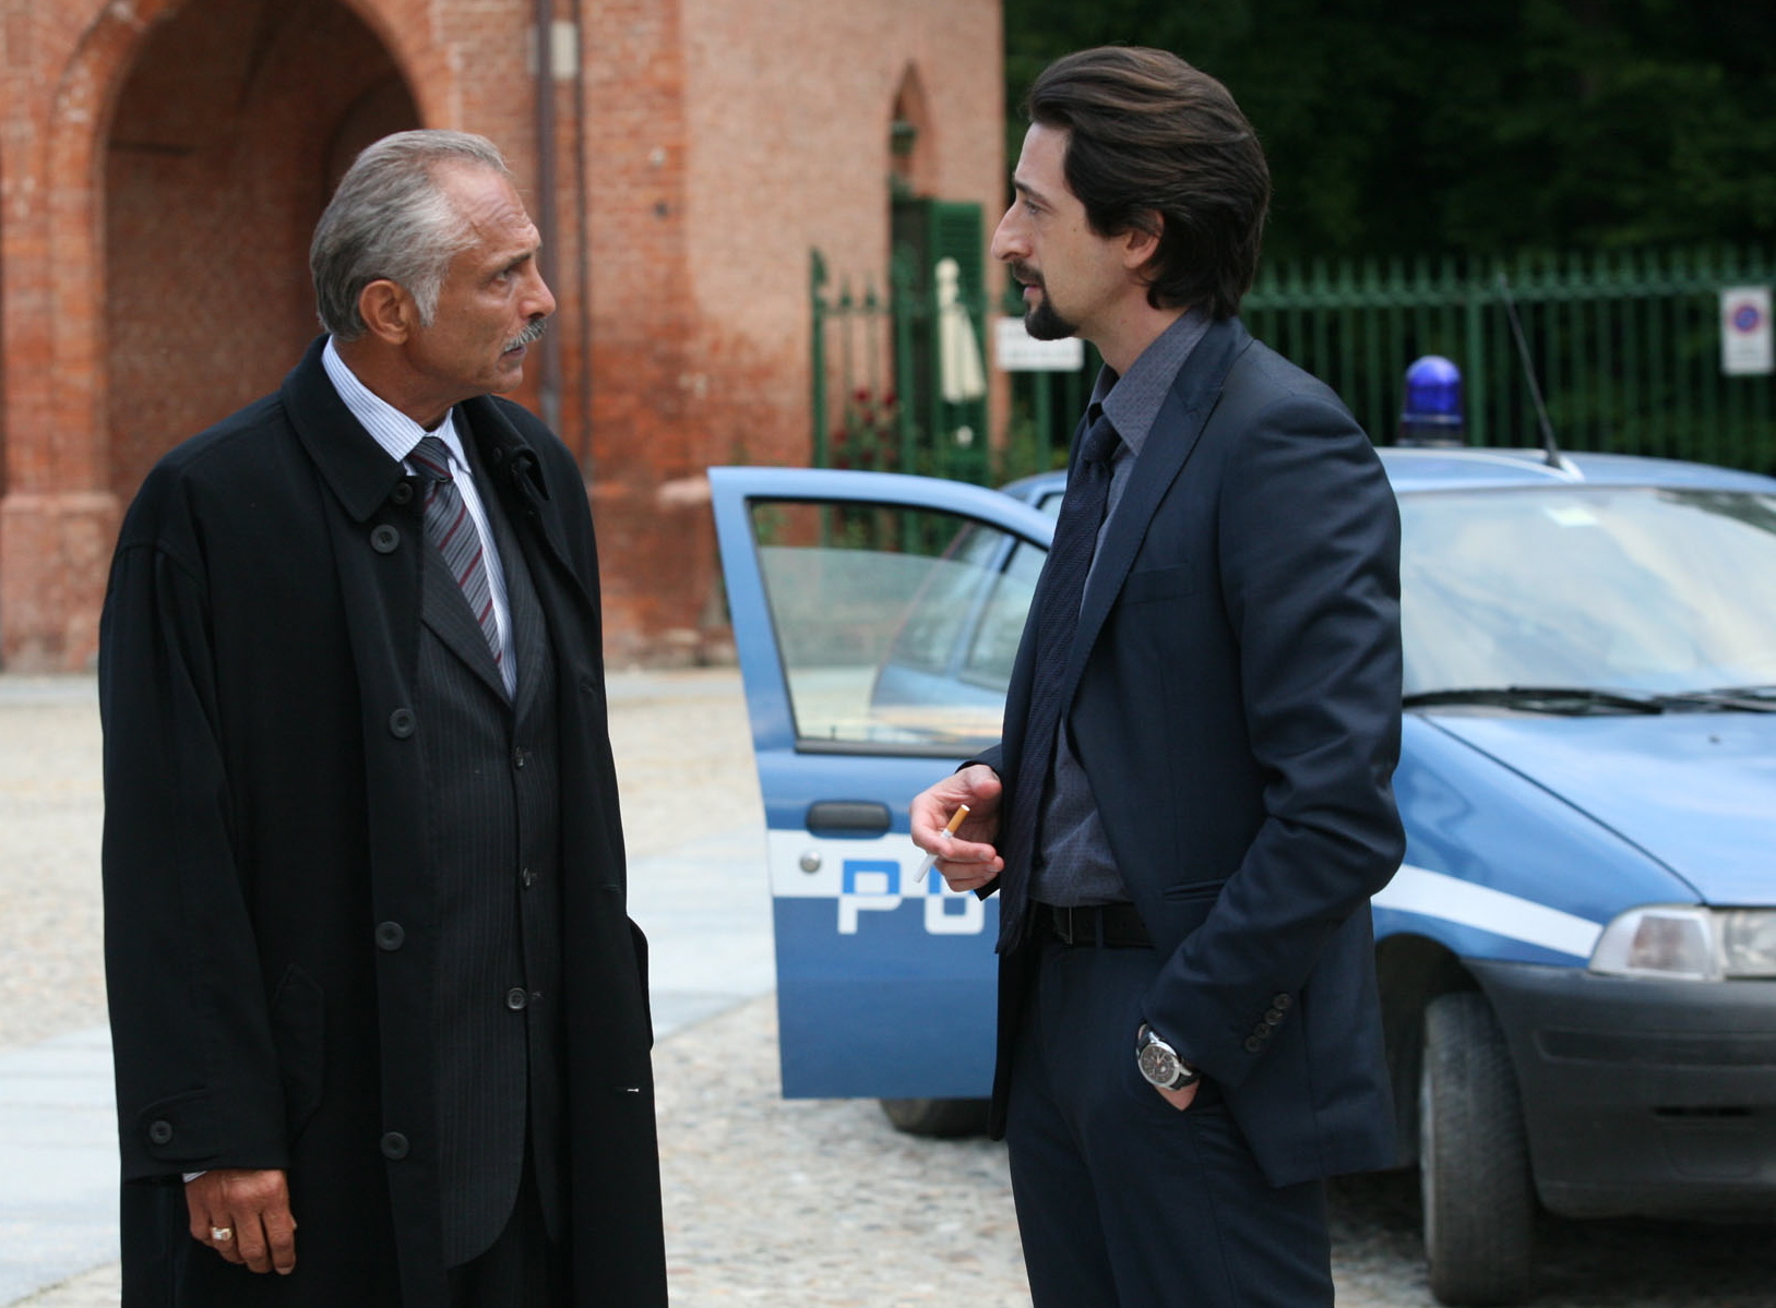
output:
[[[511,183],[490,169],[446,165],[439,185],[474,234],[449,266],[430,327],[407,339],[414,389],[437,417],[472,396],[511,390],[554,312],[536,270],[542,238]]]

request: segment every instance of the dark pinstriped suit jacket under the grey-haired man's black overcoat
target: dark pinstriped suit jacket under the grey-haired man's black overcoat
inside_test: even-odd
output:
[[[474,472],[485,485],[487,469]],[[483,508],[511,614],[517,685],[510,701],[481,623],[435,548],[421,566],[419,603],[416,710],[424,729],[414,738],[426,770],[437,949],[449,960],[432,992],[448,1267],[485,1253],[506,1228],[526,1139],[543,1225],[556,1239],[567,1207],[558,678],[524,550],[499,497],[487,497]]]

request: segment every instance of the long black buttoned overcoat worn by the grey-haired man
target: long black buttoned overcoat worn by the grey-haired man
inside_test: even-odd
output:
[[[421,495],[316,343],[126,515],[99,641],[126,1303],[446,1299],[437,886],[416,713]],[[558,669],[563,1040],[581,1304],[664,1304],[645,942],[625,914],[597,557],[568,451],[458,408]],[[298,1267],[185,1232],[179,1173],[284,1168]]]

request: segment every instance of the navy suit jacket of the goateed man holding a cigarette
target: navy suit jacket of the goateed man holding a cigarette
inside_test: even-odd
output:
[[[1067,722],[1165,957],[1144,1017],[1222,1086],[1275,1186],[1392,1162],[1368,898],[1405,850],[1398,573],[1355,419],[1238,319],[1211,325],[1099,545]],[[1007,795],[1034,628],[982,758]],[[996,1127],[1028,957],[1002,962]]]

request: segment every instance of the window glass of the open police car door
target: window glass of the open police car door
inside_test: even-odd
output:
[[[801,747],[961,756],[998,740],[1039,547],[904,506],[751,513]]]

